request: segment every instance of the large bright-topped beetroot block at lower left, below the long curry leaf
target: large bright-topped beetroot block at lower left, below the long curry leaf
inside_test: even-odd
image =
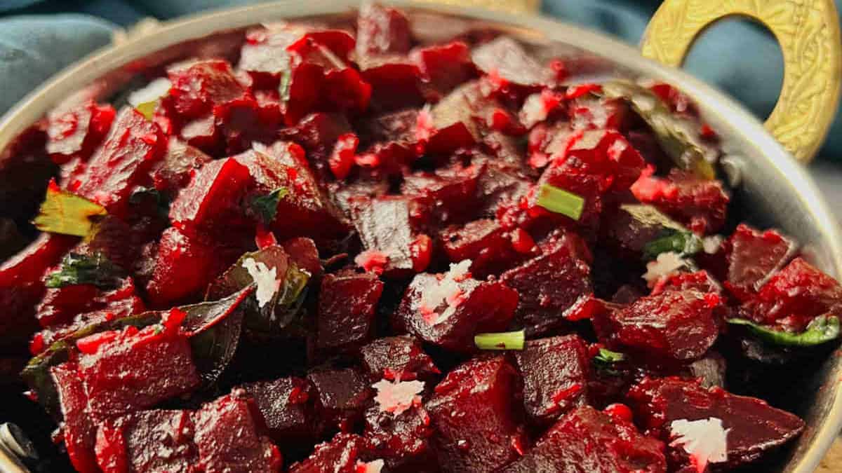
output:
[[[200,384],[187,337],[178,332],[178,327],[157,331],[159,327],[155,326],[140,332],[128,327],[123,332],[101,332],[77,342],[83,352],[79,375],[94,416],[152,407]],[[105,335],[113,337],[104,343],[91,338],[105,339]]]

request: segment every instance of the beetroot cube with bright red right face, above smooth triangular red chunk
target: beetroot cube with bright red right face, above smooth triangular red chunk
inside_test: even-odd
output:
[[[200,231],[230,231],[232,223],[242,220],[240,200],[252,179],[258,179],[249,171],[232,157],[205,164],[173,201],[169,210],[173,227],[191,236]]]

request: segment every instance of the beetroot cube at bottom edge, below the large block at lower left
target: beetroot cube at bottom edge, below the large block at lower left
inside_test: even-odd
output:
[[[103,471],[186,471],[198,460],[189,411],[142,411],[99,424]]]

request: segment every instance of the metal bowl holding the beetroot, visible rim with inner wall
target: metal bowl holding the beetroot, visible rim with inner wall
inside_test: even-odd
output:
[[[678,86],[700,104],[704,120],[723,137],[728,177],[740,181],[735,194],[743,210],[740,218],[758,226],[780,227],[802,242],[812,263],[836,278],[842,276],[842,236],[813,179],[758,120],[714,88],[650,61],[617,40],[551,19],[477,8],[431,7],[405,0],[385,3],[411,12],[417,35],[434,38],[460,29],[499,29],[535,45],[538,54],[561,56],[583,65],[594,76],[647,77]],[[114,98],[131,87],[134,77],[161,71],[166,63],[191,56],[236,54],[242,30],[248,26],[281,19],[342,24],[349,21],[358,4],[358,0],[264,3],[201,14],[160,24],[144,35],[130,35],[53,77],[3,116],[0,150],[67,100]],[[842,428],[842,357],[817,359],[815,364],[817,368],[805,373],[797,385],[781,386],[781,391],[786,391],[786,405],[781,407],[802,416],[807,429],[797,442],[759,467],[763,471],[815,470]]]

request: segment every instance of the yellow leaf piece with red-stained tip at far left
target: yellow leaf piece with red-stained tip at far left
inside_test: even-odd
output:
[[[102,205],[59,189],[53,180],[32,223],[40,231],[87,237],[93,231],[95,220],[104,215]]]

